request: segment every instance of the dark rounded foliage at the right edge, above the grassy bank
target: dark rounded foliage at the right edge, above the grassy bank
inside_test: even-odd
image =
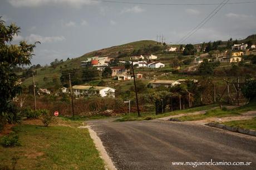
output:
[[[252,101],[256,98],[256,80],[253,78],[248,78],[241,90],[244,97],[249,101]]]

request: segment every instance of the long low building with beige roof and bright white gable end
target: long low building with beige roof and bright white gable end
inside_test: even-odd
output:
[[[100,87],[100,86],[73,86],[73,93],[75,96],[83,97],[83,96],[93,96],[100,95],[101,97],[115,97],[115,89],[110,87]]]

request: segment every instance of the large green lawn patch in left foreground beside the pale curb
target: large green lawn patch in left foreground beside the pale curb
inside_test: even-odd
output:
[[[17,156],[16,169],[105,169],[87,129],[79,129],[78,121],[61,121],[43,127],[21,124],[13,127],[22,146],[0,146],[1,166],[12,168],[11,159]]]

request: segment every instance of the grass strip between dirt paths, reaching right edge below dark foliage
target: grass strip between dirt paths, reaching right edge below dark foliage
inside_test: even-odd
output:
[[[207,111],[205,114],[197,114],[193,116],[182,116],[177,118],[179,121],[200,121],[209,117],[229,117],[229,116],[239,116],[243,112],[256,110],[256,102],[251,102],[245,106],[237,107],[233,109],[213,109]]]

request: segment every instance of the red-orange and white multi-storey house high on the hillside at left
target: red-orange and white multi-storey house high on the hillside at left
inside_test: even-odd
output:
[[[102,66],[109,66],[111,58],[110,57],[91,57],[86,58],[85,61],[81,61],[82,67],[102,67]]]

